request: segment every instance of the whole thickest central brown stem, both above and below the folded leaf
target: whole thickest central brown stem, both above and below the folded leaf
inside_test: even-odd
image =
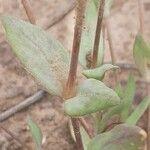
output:
[[[76,74],[77,74],[77,66],[78,66],[78,55],[80,50],[81,43],[81,34],[82,34],[82,26],[84,20],[86,0],[77,0],[77,8],[76,8],[76,23],[74,29],[74,39],[72,46],[72,56],[70,63],[69,76],[66,84],[66,89],[64,91],[64,98],[69,99],[74,96],[75,93],[75,82],[76,82]],[[72,126],[74,129],[74,134],[76,138],[76,145],[78,150],[83,150],[83,144],[80,134],[79,120],[77,118],[71,118]]]

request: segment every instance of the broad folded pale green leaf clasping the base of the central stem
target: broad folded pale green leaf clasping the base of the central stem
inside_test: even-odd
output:
[[[104,83],[95,79],[82,81],[77,88],[77,95],[64,104],[67,115],[84,116],[105,110],[120,103],[118,95]]]

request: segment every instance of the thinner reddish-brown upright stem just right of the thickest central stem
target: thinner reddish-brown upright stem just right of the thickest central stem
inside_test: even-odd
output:
[[[100,42],[100,35],[101,35],[102,21],[103,21],[103,14],[104,14],[104,6],[105,6],[105,0],[100,0],[99,10],[98,10],[98,18],[97,18],[97,26],[96,26],[96,32],[95,32],[94,47],[93,47],[92,68],[95,68],[96,64],[97,64],[99,42]]]

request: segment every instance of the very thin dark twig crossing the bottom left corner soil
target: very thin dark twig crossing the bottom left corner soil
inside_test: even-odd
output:
[[[22,148],[23,149],[29,149],[28,147],[27,147],[27,145],[26,144],[24,144],[18,137],[16,137],[16,135],[14,135],[11,131],[9,131],[8,129],[6,129],[6,128],[4,128],[2,125],[0,125],[0,128],[2,129],[2,130],[4,130],[8,135],[10,135],[13,139],[15,139],[21,146],[22,146]]]

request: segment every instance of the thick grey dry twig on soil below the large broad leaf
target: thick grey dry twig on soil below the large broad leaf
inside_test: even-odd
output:
[[[25,109],[26,107],[29,107],[31,104],[33,104],[37,101],[40,101],[42,99],[42,97],[44,96],[44,93],[45,93],[44,91],[40,90],[37,93],[35,93],[33,96],[25,99],[23,102],[2,112],[0,114],[0,122],[8,119],[9,117],[13,116],[15,113]]]

